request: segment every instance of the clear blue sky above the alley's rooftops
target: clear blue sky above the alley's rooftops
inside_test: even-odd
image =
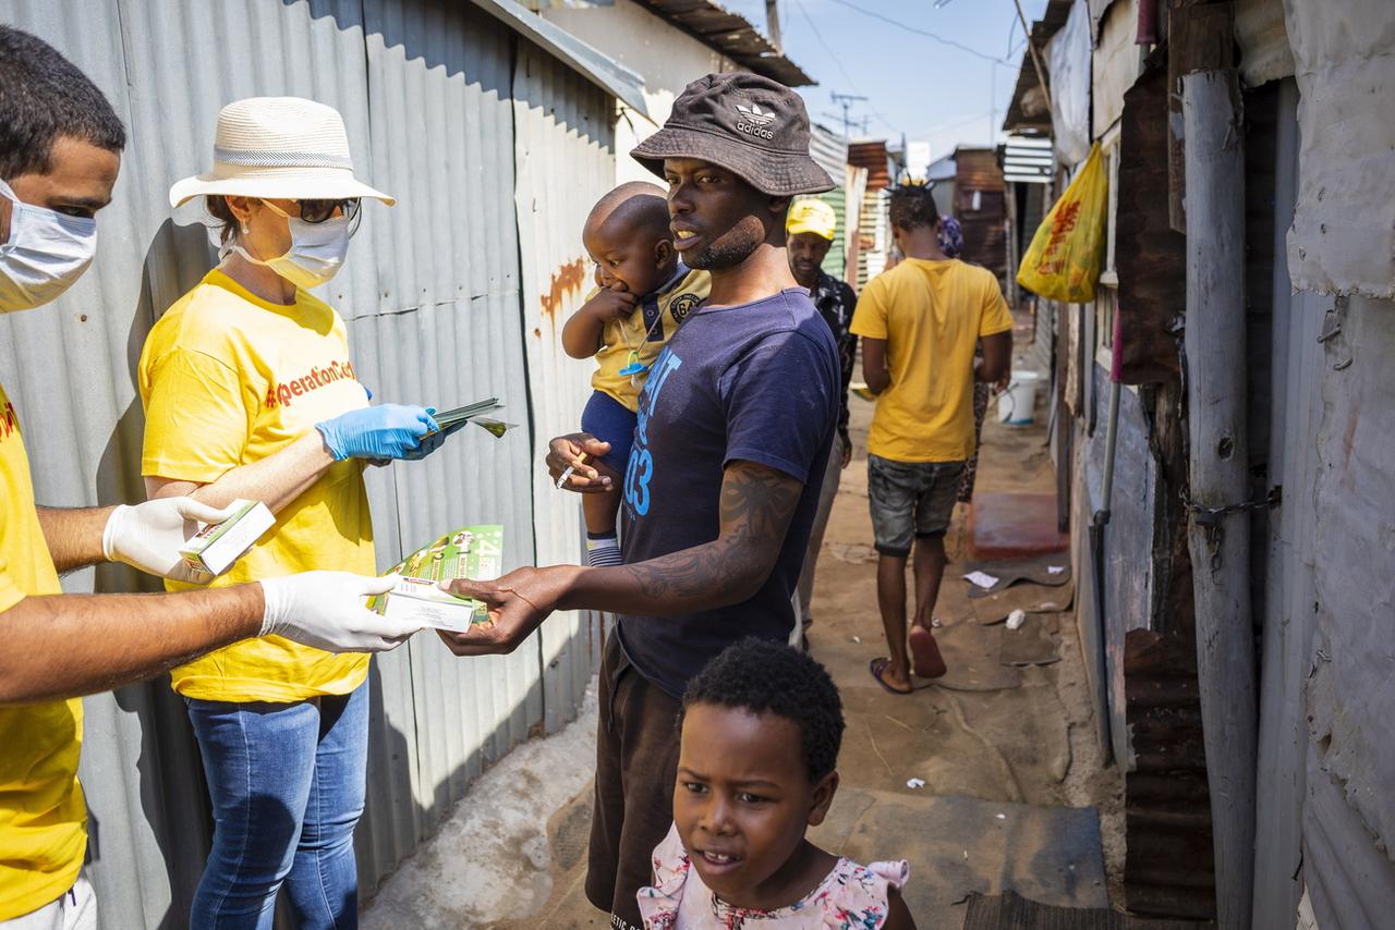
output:
[[[935,8],[936,1],[943,6]],[[764,32],[764,0],[717,3]],[[993,66],[851,7],[1007,59],[1013,66]],[[1023,0],[1028,24],[1045,8],[1046,0]],[[958,144],[986,145],[996,138],[1017,82],[1017,63],[1027,49],[1013,0],[780,0],[780,22],[785,54],[819,81],[817,86],[801,89],[816,121],[841,131],[843,109],[829,93],[859,93],[869,99],[854,105],[850,116],[869,120],[869,137],[900,141],[904,132],[910,142],[928,141],[932,158],[947,155]],[[861,135],[861,130],[852,134]]]

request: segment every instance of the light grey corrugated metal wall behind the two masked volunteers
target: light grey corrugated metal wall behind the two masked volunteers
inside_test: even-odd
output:
[[[208,167],[225,103],[299,95],[343,113],[359,173],[399,198],[365,206],[349,265],[322,293],[349,322],[360,378],[381,399],[442,407],[499,395],[527,424],[502,441],[467,429],[424,463],[371,470],[379,565],[467,521],[504,523],[511,565],[579,556],[575,503],[544,501],[536,473],[537,445],[576,421],[586,365],[559,371],[526,329],[547,261],[576,252],[578,209],[614,174],[604,92],[467,3],[13,0],[4,18],[82,67],[131,131],[92,270],[56,305],[0,319],[0,372],[28,425],[40,501],[142,495],[135,360],[151,323],[215,258],[202,227],[172,219],[166,191]],[[516,183],[520,204],[525,188],[536,197],[523,216]],[[121,569],[66,584],[149,587]],[[357,835],[365,888],[488,761],[544,719],[575,715],[593,668],[590,620],[555,618],[509,657],[459,661],[418,637],[374,664]],[[89,699],[86,712],[102,920],[183,926],[209,837],[183,706],[155,682]]]

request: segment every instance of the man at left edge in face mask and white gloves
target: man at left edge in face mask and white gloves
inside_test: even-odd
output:
[[[124,145],[120,119],[81,71],[0,26],[0,312],[46,304],[86,270]],[[96,926],[81,876],[78,696],[252,636],[363,653],[416,632],[364,608],[391,581],[345,572],[181,594],[61,594],[60,572],[102,561],[187,581],[179,548],[195,520],[220,514],[188,498],[36,506],[20,417],[0,386],[0,929]]]

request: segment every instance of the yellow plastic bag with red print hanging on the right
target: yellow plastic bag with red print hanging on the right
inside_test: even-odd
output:
[[[1017,283],[1048,300],[1092,301],[1105,257],[1108,209],[1109,177],[1096,142],[1076,180],[1032,236],[1017,269]]]

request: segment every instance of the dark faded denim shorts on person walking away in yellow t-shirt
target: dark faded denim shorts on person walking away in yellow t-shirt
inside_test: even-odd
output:
[[[963,474],[963,462],[893,462],[868,455],[876,551],[904,559],[914,540],[944,535]]]

